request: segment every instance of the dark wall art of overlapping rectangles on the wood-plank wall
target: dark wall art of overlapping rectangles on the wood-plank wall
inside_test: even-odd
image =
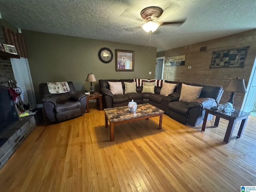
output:
[[[210,68],[244,68],[249,46],[212,52]]]

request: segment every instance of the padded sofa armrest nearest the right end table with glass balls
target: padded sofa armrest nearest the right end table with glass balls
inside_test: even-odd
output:
[[[216,101],[213,98],[198,98],[188,104],[188,109],[191,108],[211,108],[217,106]]]

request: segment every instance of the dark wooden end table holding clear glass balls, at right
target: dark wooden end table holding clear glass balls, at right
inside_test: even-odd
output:
[[[232,136],[232,132],[234,130],[235,123],[238,120],[242,120],[242,122],[240,124],[240,128],[238,130],[238,134],[237,134],[236,138],[242,137],[242,134],[244,132],[245,124],[247,122],[248,116],[250,115],[250,113],[248,113],[248,112],[244,112],[244,111],[240,111],[240,110],[236,110],[236,109],[234,110],[234,112],[231,112],[230,114],[222,112],[220,110],[214,111],[214,110],[206,109],[205,115],[204,115],[204,122],[203,122],[203,126],[202,126],[202,131],[205,130],[208,114],[212,114],[212,115],[216,116],[215,122],[214,122],[215,127],[218,127],[219,122],[220,122],[220,118],[228,120],[228,128],[226,130],[226,134],[225,134],[225,137],[224,137],[224,140],[223,140],[225,143],[230,142],[230,138]]]

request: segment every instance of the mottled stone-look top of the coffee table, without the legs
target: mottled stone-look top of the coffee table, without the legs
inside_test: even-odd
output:
[[[136,112],[130,112],[128,106],[104,109],[109,122],[118,122],[150,115],[163,114],[164,111],[151,104],[138,104]]]

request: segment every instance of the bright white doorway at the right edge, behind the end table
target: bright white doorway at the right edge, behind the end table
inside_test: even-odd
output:
[[[256,116],[256,58],[252,67],[252,72],[248,81],[247,92],[244,95],[244,101],[241,110],[250,112]]]

